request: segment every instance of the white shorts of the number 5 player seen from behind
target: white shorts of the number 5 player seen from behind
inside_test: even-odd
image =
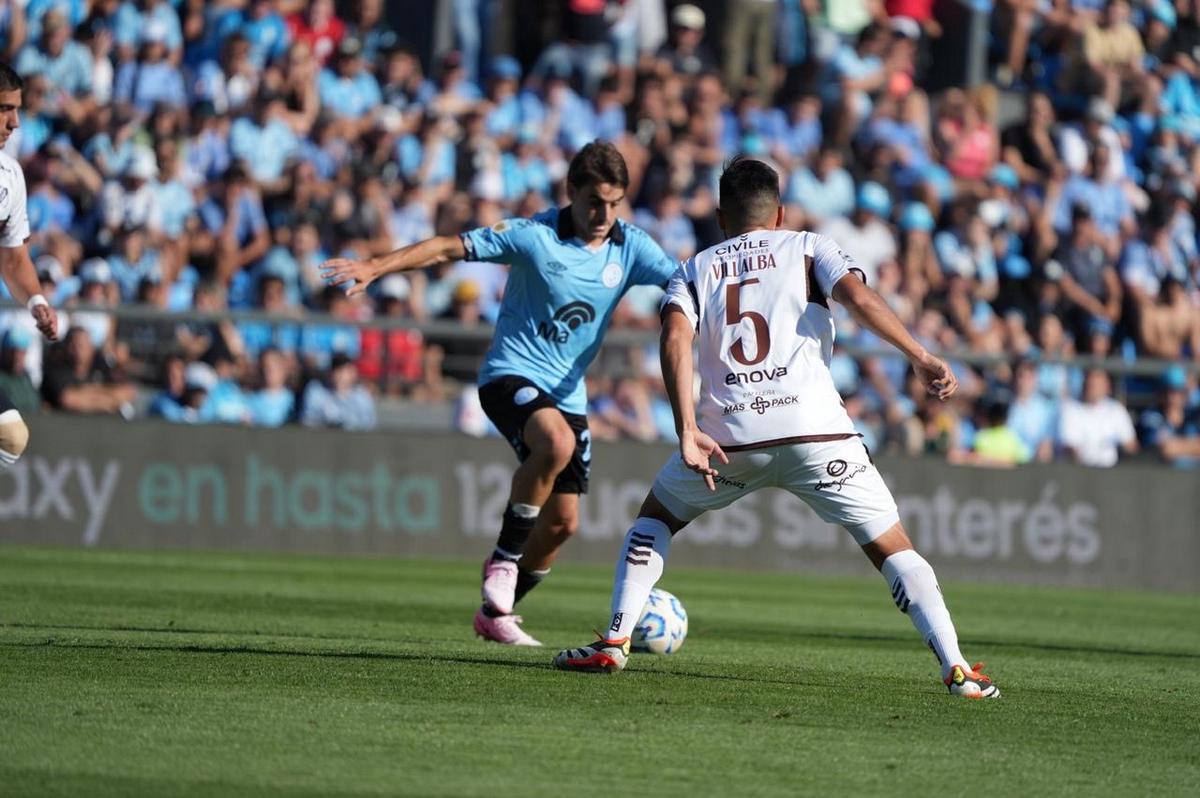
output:
[[[716,490],[677,451],[654,478],[654,498],[680,521],[719,510],[763,487],[803,499],[822,521],[845,527],[864,546],[900,521],[892,491],[859,438],[798,443],[728,454],[716,463]]]

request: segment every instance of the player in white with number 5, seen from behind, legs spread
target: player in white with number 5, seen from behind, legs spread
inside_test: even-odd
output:
[[[559,652],[554,665],[622,670],[672,535],[706,510],[775,486],[850,532],[934,650],[952,694],[1000,697],[983,666],[968,667],[959,650],[934,569],[913,550],[834,388],[828,299],[902,352],[930,394],[950,396],[953,372],[913,340],[836,244],[779,229],[779,175],[769,166],[734,160],[721,175],[720,203],[728,239],[685,262],[662,304],[662,374],[679,451],[659,470],[625,536],[606,634]],[[691,392],[697,338],[698,404]]]

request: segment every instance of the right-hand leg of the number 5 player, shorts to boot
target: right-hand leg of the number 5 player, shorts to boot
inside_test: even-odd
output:
[[[982,666],[967,667],[937,576],[917,553],[900,523],[892,492],[857,439],[792,448],[784,487],[804,499],[823,521],[844,527],[887,581],[892,599],[908,616],[942,667],[954,695],[998,698]]]

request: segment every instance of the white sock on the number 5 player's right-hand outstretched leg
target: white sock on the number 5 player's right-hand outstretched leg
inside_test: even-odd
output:
[[[908,616],[925,644],[934,650],[942,666],[942,678],[946,678],[953,666],[966,665],[934,566],[910,548],[888,557],[880,570],[896,607]]]

